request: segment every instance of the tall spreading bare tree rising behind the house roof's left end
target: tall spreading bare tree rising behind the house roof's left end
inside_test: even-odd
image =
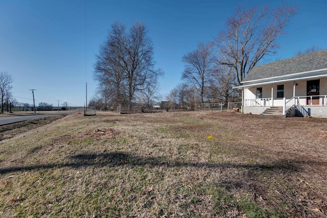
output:
[[[264,6],[262,10],[236,8],[226,29],[215,39],[219,63],[236,72],[236,85],[260,60],[276,53],[277,39],[285,34],[285,26],[295,12],[294,6],[286,5],[276,9]]]

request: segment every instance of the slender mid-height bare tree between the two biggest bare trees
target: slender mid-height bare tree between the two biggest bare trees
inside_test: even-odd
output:
[[[212,43],[200,42],[195,51],[182,57],[182,61],[185,69],[181,79],[190,82],[197,89],[203,103],[205,86],[215,63]]]

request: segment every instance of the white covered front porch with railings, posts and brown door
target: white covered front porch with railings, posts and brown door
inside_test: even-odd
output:
[[[249,81],[242,89],[242,112],[262,114],[270,107],[290,108],[308,115],[327,116],[327,70]]]

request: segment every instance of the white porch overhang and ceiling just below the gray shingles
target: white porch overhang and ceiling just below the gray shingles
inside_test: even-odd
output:
[[[321,78],[321,77],[327,77],[327,70],[308,72],[308,73],[299,74],[299,75],[285,75],[283,77],[278,77],[278,78],[267,78],[267,79],[263,79],[263,80],[252,82],[252,83],[246,83],[241,86],[236,86],[233,88],[250,88],[250,87],[254,87],[254,86],[258,86],[258,85],[289,82],[289,81],[295,81],[295,80],[316,79],[316,78]]]

